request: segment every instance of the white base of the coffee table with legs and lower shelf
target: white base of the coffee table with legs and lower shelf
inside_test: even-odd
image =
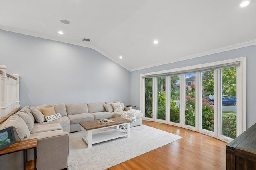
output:
[[[116,129],[112,129],[112,127],[116,127]],[[102,132],[93,134],[93,131],[99,131],[100,129],[109,130],[104,130]],[[88,148],[92,147],[92,144],[95,143],[109,141],[119,137],[130,137],[130,123],[122,123],[120,125],[106,126],[91,130],[86,130],[84,127],[81,127],[81,130],[82,139],[84,139],[84,141],[88,144]]]

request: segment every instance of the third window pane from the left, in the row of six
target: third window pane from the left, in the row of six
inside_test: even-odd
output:
[[[180,123],[180,75],[171,76],[170,121]]]

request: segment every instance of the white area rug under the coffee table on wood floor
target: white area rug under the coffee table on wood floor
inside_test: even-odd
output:
[[[130,137],[88,148],[81,131],[69,134],[68,170],[104,170],[176,141],[182,137],[146,125],[130,128]]]

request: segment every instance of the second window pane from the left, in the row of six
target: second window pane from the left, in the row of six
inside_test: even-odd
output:
[[[165,77],[157,78],[157,119],[165,120]]]

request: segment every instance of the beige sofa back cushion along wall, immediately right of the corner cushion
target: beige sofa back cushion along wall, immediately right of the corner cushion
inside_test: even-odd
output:
[[[68,115],[88,113],[88,107],[86,103],[82,104],[66,104],[66,110]]]

